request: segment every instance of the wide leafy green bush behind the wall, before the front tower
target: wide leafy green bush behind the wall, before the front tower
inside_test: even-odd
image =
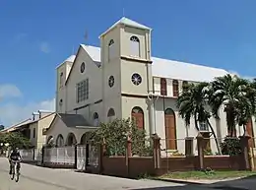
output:
[[[92,134],[95,144],[105,144],[107,155],[120,156],[126,153],[127,138],[132,141],[132,154],[139,156],[150,155],[147,151],[150,144],[146,143],[145,130],[139,129],[137,125],[128,119],[115,119],[109,123],[100,123]],[[153,150],[152,150],[153,152]]]

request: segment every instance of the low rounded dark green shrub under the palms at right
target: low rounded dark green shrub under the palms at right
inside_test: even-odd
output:
[[[236,156],[241,154],[240,141],[236,137],[225,137],[221,149],[223,155]]]

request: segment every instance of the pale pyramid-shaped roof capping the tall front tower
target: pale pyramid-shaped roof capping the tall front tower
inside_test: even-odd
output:
[[[117,27],[118,25],[123,24],[125,26],[129,26],[129,27],[134,27],[134,28],[138,28],[138,29],[144,29],[144,30],[148,30],[148,31],[152,31],[151,28],[146,27],[145,25],[139,24],[133,20],[130,20],[126,17],[122,17],[119,21],[117,21],[114,25],[112,25],[108,30],[106,30],[106,32],[103,32],[102,34],[99,35],[99,37],[101,37],[102,35],[104,35],[105,33],[111,31],[112,29],[114,29],[115,27]]]

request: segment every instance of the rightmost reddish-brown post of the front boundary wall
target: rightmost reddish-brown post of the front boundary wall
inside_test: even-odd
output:
[[[240,145],[242,149],[242,161],[243,161],[243,169],[251,170],[252,165],[250,165],[250,147],[249,140],[251,137],[248,135],[247,131],[243,136],[240,136]]]

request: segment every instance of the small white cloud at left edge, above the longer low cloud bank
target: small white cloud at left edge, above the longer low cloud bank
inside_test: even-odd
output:
[[[11,84],[0,84],[0,98],[4,97],[19,97],[21,96],[21,91]]]

